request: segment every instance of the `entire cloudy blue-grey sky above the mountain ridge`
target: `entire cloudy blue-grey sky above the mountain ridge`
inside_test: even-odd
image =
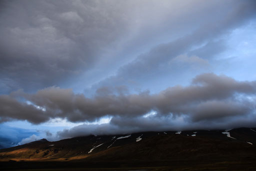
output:
[[[1,0],[0,147],[256,126],[255,0]]]

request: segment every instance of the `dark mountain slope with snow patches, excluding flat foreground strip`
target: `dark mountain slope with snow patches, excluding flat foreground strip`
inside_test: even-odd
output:
[[[0,161],[69,161],[168,165],[171,162],[250,162],[256,160],[255,128],[139,132],[46,139],[0,149]],[[118,165],[118,164],[117,164]]]

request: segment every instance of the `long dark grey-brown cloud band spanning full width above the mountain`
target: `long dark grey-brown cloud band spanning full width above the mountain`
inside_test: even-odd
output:
[[[197,75],[189,86],[177,85],[155,94],[116,93],[104,87],[94,97],[87,98],[59,87],[33,94],[19,90],[0,96],[4,104],[0,113],[1,121],[21,119],[39,123],[56,117],[72,122],[93,121],[102,116],[132,118],[153,110],[159,117],[183,115],[197,122],[250,114],[254,112],[255,93],[255,81],[236,81],[225,75],[205,73]],[[18,101],[20,97],[33,105]]]

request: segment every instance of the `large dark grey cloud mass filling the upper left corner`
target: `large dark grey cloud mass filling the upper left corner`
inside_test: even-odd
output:
[[[129,29],[132,5],[116,0],[0,3],[3,92],[51,86],[91,68]]]

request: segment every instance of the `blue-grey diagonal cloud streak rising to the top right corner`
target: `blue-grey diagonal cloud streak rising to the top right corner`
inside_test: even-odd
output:
[[[179,59],[179,61],[182,60],[183,62],[205,63],[207,59],[210,63],[215,57],[214,54],[225,49],[223,37],[227,37],[233,29],[250,21],[255,16],[255,1],[247,1],[248,3],[236,2],[231,5],[230,1],[228,1],[221,4],[221,8],[215,3],[204,4],[202,2],[204,9],[200,9],[198,13],[193,14],[190,13],[193,11],[191,6],[191,8],[187,9],[186,14],[189,16],[187,18],[191,19],[196,16],[197,18],[193,20],[200,19],[198,22],[194,22],[194,25],[189,24],[186,33],[167,42],[152,46],[146,52],[135,56],[129,63],[119,67],[114,75],[95,83],[92,88],[97,89],[100,86],[111,86],[112,84],[115,86],[126,85],[130,89],[143,86],[148,88],[150,84],[154,85],[155,81],[161,81],[164,84],[166,81],[171,82],[168,79],[174,77],[184,81],[188,77],[191,78],[195,74],[207,71],[207,67],[191,68],[185,65],[180,67],[180,65],[170,65],[169,61]],[[218,1],[217,3],[220,2]],[[208,5],[211,6],[211,9],[207,8]],[[198,5],[199,8],[202,6]],[[226,10],[226,8],[230,10]],[[205,11],[206,9],[208,11]],[[215,12],[217,10],[221,11],[221,16],[217,16],[220,14]],[[187,21],[186,18],[182,19]],[[189,23],[189,21],[187,22]],[[175,33],[179,35],[177,32]],[[188,54],[188,56],[185,58],[180,54]],[[154,87],[149,88],[153,89]]]

